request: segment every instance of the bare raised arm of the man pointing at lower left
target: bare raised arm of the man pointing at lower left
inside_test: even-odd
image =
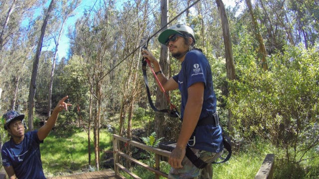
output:
[[[63,97],[57,103],[57,105],[53,109],[51,116],[47,120],[46,124],[43,125],[42,127],[40,127],[40,129],[38,130],[37,134],[38,134],[38,138],[40,141],[44,140],[48,136],[49,132],[53,128],[53,126],[54,126],[54,124],[59,116],[59,112],[62,111],[63,109],[68,110],[68,106],[72,105],[72,104],[64,102],[68,97],[69,96]]]

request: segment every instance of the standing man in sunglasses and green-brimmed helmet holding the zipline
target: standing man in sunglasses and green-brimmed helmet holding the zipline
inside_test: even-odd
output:
[[[171,166],[168,178],[211,179],[210,163],[221,155],[223,144],[209,62],[200,49],[194,48],[194,32],[187,25],[176,24],[162,31],[159,42],[181,62],[179,73],[167,79],[153,54],[142,51],[153,63],[164,90],[179,89],[181,93],[182,126],[176,147],[168,159]],[[187,145],[198,158],[208,163],[205,168],[197,168],[185,157]]]

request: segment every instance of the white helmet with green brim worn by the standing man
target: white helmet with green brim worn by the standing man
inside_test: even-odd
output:
[[[168,37],[173,34],[180,34],[180,35],[188,34],[193,39],[192,45],[195,44],[195,36],[194,36],[193,29],[191,29],[187,25],[182,25],[182,24],[172,25],[168,29],[162,31],[159,35],[159,42],[165,45],[166,41],[168,40]]]

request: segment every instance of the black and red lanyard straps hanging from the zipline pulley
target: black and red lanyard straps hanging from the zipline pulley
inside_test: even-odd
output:
[[[141,40],[141,50],[147,50],[149,39],[150,38],[144,38],[144,39]],[[162,89],[163,93],[165,94],[167,102],[169,103],[169,109],[158,109],[158,108],[155,107],[155,105],[153,103],[153,100],[152,100],[152,97],[151,97],[150,88],[149,88],[149,81],[148,81],[148,77],[147,77],[147,65],[150,67],[150,69],[151,69],[156,81],[158,82],[158,84],[159,84],[160,88]],[[173,105],[170,102],[169,96],[165,92],[165,89],[161,85],[160,80],[158,79],[156,73],[154,72],[154,69],[151,66],[151,62],[149,61],[149,59],[144,58],[144,57],[142,58],[142,71],[143,71],[143,77],[144,77],[146,91],[147,91],[147,94],[148,94],[148,100],[149,100],[149,103],[150,103],[150,106],[152,107],[152,109],[154,111],[165,112],[170,117],[179,117],[181,119],[181,117],[180,117],[180,115],[178,113],[178,110],[176,109],[176,106]]]

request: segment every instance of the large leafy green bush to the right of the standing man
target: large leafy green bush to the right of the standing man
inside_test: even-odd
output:
[[[299,162],[319,144],[315,127],[319,122],[319,54],[301,46],[286,50],[269,57],[269,72],[249,61],[238,64],[241,75],[230,82],[228,107],[234,114],[238,140],[261,136],[286,149],[288,159]]]

